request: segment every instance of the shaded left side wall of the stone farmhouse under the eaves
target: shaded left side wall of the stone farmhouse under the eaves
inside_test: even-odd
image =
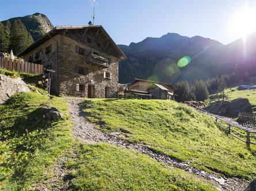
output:
[[[57,64],[58,64],[58,55],[57,54],[57,42],[60,41],[60,35],[56,35],[45,41],[43,44],[37,46],[37,48],[33,49],[29,53],[24,55],[24,60],[29,61],[29,57],[32,56],[32,63],[43,64],[47,66],[51,64],[51,69],[57,71]],[[51,45],[51,52],[45,53],[45,48]],[[39,52],[39,57],[36,58],[36,53]],[[58,85],[57,85],[57,75],[58,73],[51,73],[51,93],[57,94],[58,93]],[[48,77],[48,76],[47,76]]]

